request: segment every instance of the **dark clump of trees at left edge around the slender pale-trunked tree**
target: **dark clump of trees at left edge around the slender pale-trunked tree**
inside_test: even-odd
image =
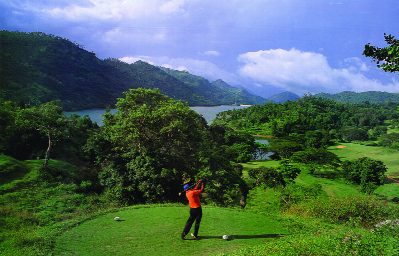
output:
[[[51,158],[85,161],[82,147],[98,125],[87,115],[63,115],[59,104],[51,101],[30,107],[20,101],[1,103],[0,153],[19,160],[44,159],[51,149]]]

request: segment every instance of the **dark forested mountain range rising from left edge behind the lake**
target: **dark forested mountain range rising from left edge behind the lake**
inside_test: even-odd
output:
[[[192,106],[256,104],[202,77],[188,83],[146,62],[100,60],[76,42],[42,32],[0,31],[0,48],[2,100],[39,105],[60,99],[64,110],[106,108],[124,97],[122,92],[144,87]]]

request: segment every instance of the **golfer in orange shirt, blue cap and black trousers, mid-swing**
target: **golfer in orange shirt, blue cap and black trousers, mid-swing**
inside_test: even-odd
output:
[[[203,184],[201,184],[201,189],[198,189],[198,186],[201,183],[201,181],[202,180],[198,181],[198,184],[194,189],[186,191],[186,196],[188,198],[188,205],[190,205],[190,217],[188,217],[186,226],[184,226],[184,230],[182,232],[182,239],[185,239],[184,237],[186,236],[186,234],[190,232],[194,220],[196,221],[196,224],[194,225],[194,234],[191,233],[191,236],[194,238],[198,236],[199,223],[201,223],[201,218],[202,218],[202,208],[201,208],[201,202],[199,202],[199,194],[201,194],[203,191]],[[188,188],[189,188],[188,185],[184,185],[184,190]]]

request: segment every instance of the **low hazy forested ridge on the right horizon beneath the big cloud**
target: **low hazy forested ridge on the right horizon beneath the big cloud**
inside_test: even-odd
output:
[[[340,103],[360,103],[368,101],[369,103],[384,103],[386,101],[399,102],[399,93],[388,93],[386,91],[342,91],[337,94],[317,93],[315,97],[322,97],[325,99],[333,99]]]

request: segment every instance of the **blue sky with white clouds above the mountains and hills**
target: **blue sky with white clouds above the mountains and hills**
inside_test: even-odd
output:
[[[399,93],[362,56],[399,37],[397,0],[0,0],[0,29],[40,31],[100,59],[187,70],[269,97],[291,91]]]

